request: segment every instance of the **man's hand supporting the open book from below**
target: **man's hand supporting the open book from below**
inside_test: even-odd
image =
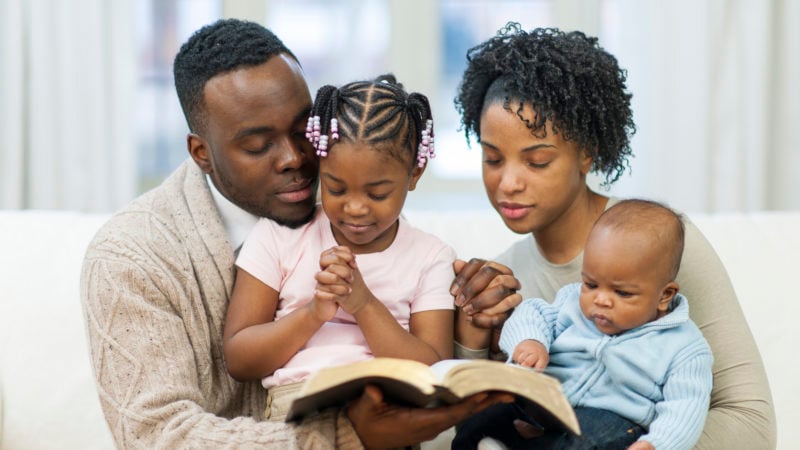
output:
[[[405,447],[429,441],[491,405],[512,401],[511,394],[481,393],[451,406],[408,408],[384,402],[380,389],[367,386],[347,407],[347,417],[366,448]]]

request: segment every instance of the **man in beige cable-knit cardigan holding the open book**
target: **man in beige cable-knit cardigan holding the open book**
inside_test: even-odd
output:
[[[317,161],[304,135],[311,96],[283,43],[239,20],[197,31],[174,75],[191,160],[103,226],[81,277],[98,391],[117,445],[403,446],[497,400],[415,410],[384,403],[370,387],[347,408],[299,425],[259,421],[265,392],[228,376],[223,318],[235,251],[257,218],[297,226],[313,214]]]

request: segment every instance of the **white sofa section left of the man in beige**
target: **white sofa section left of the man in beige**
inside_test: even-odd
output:
[[[0,448],[114,448],[78,282],[86,246],[107,218],[0,211]]]

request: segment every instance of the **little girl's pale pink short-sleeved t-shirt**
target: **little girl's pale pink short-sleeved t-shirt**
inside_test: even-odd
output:
[[[280,293],[275,320],[311,301],[319,255],[338,245],[322,208],[300,228],[258,221],[236,265]],[[411,314],[453,309],[450,283],[455,251],[439,238],[400,219],[394,242],[378,253],[356,255],[367,287],[408,330]],[[372,358],[361,329],[342,309],[325,323],[286,365],[264,378],[264,387],[304,380],[323,367]]]

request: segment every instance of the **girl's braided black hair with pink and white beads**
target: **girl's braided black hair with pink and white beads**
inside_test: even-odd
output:
[[[422,166],[433,157],[433,116],[428,98],[417,92],[407,93],[392,74],[339,88],[322,86],[311,117],[308,131],[312,130],[312,120],[318,118],[319,134],[328,136],[325,142],[330,138],[331,147],[337,140],[368,144],[409,163],[409,170],[413,162],[419,161]],[[331,119],[336,120],[338,129],[332,127]],[[428,140],[430,153],[422,154],[428,148]],[[320,147],[315,143],[315,147],[323,156],[327,154],[325,144]]]

